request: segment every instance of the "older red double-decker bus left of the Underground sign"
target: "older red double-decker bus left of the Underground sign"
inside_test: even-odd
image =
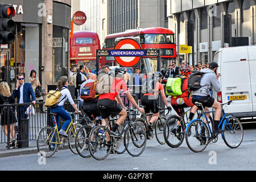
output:
[[[70,67],[84,64],[90,71],[96,68],[96,50],[101,49],[98,34],[92,31],[77,31],[70,39]]]

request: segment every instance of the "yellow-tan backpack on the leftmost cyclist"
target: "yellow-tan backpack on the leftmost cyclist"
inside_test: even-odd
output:
[[[65,88],[63,88],[65,89]],[[63,90],[61,89],[61,90]],[[49,92],[47,93],[47,97],[46,97],[46,104],[44,104],[46,107],[56,107],[61,101],[64,100],[65,96],[61,101],[60,97],[61,97],[61,90],[49,90]]]

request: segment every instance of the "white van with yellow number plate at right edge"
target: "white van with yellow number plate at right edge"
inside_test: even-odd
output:
[[[256,117],[256,46],[220,48],[214,62],[219,66],[221,84],[217,100],[233,100],[225,113],[238,118]]]

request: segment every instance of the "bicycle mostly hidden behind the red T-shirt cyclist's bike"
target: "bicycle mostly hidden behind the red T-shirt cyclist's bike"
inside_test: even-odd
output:
[[[113,125],[113,122],[116,120],[117,118],[110,119],[110,121],[112,122],[112,125]],[[92,131],[94,127],[99,125],[100,123],[96,123],[96,125],[93,125],[92,122],[87,122],[84,126],[82,126],[77,131],[76,138],[75,138],[76,150],[82,158],[89,158],[91,156],[89,151],[89,147],[92,147],[92,143],[89,140],[90,131]],[[117,131],[119,134],[121,134],[121,131],[123,130],[124,127],[125,127],[125,124],[123,123],[118,127]],[[126,151],[126,148],[123,144],[123,140],[120,140],[120,139],[114,140],[114,148],[115,148],[114,150],[115,154],[123,154]]]

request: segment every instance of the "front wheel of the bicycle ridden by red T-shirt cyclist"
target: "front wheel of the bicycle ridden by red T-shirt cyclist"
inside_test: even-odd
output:
[[[139,156],[146,148],[147,137],[144,127],[139,123],[131,123],[123,138],[125,148],[131,156]]]

